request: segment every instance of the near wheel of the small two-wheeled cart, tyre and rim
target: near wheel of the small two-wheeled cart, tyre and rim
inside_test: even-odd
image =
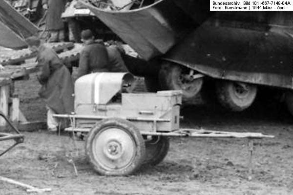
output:
[[[134,173],[145,159],[145,141],[135,125],[121,118],[97,123],[85,141],[85,153],[95,171],[106,176]]]

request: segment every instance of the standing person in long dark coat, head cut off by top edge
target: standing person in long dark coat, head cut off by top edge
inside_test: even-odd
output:
[[[49,42],[64,40],[64,23],[61,14],[67,0],[43,0],[43,7],[47,8],[46,30],[50,34]]]

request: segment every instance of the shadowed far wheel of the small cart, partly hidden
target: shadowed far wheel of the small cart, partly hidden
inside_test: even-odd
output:
[[[144,164],[155,166],[162,162],[168,154],[169,138],[154,136],[152,140],[146,141],[146,157]]]

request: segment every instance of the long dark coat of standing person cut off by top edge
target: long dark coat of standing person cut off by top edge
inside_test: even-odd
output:
[[[61,14],[65,9],[67,0],[46,0],[48,4],[48,12],[46,16],[47,30],[62,30],[64,28]]]

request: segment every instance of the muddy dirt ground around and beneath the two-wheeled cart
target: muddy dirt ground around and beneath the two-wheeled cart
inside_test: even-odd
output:
[[[35,77],[16,84],[21,110],[28,119],[45,119]],[[40,188],[48,195],[292,195],[292,118],[278,105],[255,105],[243,113],[213,110],[203,104],[182,110],[182,127],[211,130],[262,132],[275,138],[254,142],[254,172],[248,178],[246,139],[172,138],[165,160],[143,167],[127,177],[97,175],[84,156],[84,142],[58,137],[44,130],[25,133],[25,142],[0,157],[1,176]],[[0,150],[8,142],[0,143]],[[68,159],[73,159],[78,176]],[[0,181],[1,195],[23,195],[25,191]]]

